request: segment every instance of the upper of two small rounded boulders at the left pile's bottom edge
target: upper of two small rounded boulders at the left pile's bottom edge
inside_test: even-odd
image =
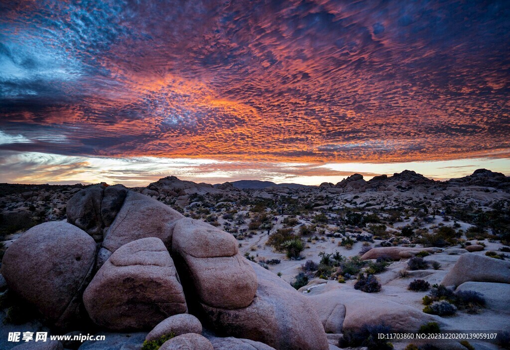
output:
[[[196,333],[202,334],[202,324],[193,315],[181,313],[170,316],[161,321],[152,331],[147,334],[145,340],[156,340],[164,335],[173,334],[178,336],[181,334]]]

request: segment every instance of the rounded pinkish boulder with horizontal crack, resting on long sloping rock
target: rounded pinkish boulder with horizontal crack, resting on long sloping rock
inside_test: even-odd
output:
[[[253,301],[257,277],[230,233],[202,221],[179,220],[173,229],[172,255],[201,303],[237,309]]]

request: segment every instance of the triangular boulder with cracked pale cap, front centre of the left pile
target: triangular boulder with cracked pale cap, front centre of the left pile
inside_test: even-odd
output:
[[[117,249],[88,285],[83,301],[90,318],[111,330],[152,329],[187,312],[173,260],[156,237]]]

